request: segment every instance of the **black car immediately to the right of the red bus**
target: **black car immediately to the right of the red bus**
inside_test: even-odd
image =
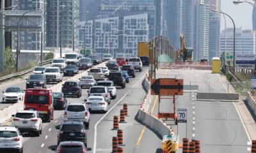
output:
[[[67,99],[62,92],[52,92],[53,108],[64,110],[67,106]]]

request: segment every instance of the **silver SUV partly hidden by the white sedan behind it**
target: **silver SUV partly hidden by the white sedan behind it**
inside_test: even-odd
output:
[[[106,98],[106,101],[110,104],[111,95],[108,87],[104,86],[93,86],[90,87],[88,92],[88,97],[90,96],[103,96]]]

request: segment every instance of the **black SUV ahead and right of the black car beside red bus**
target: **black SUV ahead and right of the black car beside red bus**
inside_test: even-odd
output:
[[[79,86],[79,82],[76,81],[66,81],[62,85],[61,92],[65,96],[77,96],[77,98],[82,96],[82,89]]]

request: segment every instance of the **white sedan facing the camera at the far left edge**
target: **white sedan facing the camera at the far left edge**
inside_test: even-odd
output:
[[[3,91],[2,103],[22,101],[24,98],[24,92],[20,87],[8,87]]]

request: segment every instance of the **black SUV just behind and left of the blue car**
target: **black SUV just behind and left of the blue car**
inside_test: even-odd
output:
[[[114,85],[125,88],[125,78],[122,72],[109,72],[108,80],[113,81]]]

